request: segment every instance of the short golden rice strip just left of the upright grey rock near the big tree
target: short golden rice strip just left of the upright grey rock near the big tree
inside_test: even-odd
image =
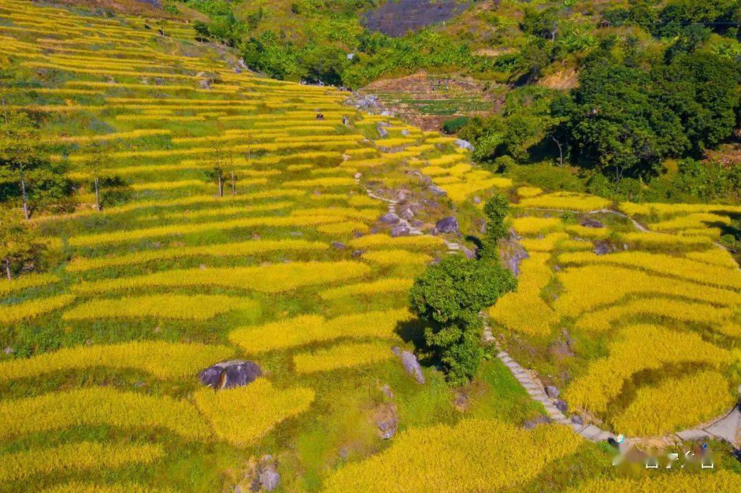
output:
[[[328,372],[393,358],[388,343],[348,343],[293,356],[296,373]]]

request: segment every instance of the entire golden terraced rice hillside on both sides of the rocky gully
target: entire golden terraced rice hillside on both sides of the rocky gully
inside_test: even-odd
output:
[[[543,348],[533,360],[543,373],[559,369],[548,348],[568,331],[565,395],[586,418],[659,433],[708,417],[697,386],[714,389],[712,412],[728,403],[741,281],[706,229],[729,209],[622,204],[657,233],[582,227],[558,211],[610,204],[517,189],[449,137],[356,113],[338,90],[234,70],[185,24],[165,33],[0,0],[0,60],[24,78],[3,90],[8,107],[41,115],[70,178],[84,180],[90,145],[106,144],[102,171],[126,196],[99,211],[82,188],[79,207],[32,218],[59,266],[0,281],[0,492],[247,491],[265,455],[285,492],[395,491],[400,462],[404,491],[430,491],[431,480],[451,492],[540,491],[556,461],[605,458],[563,426],[519,429],[542,410],[494,361],[465,406],[434,369],[424,386],[404,372],[391,346],[411,349],[420,329],[406,292],[445,244],[391,238],[377,223],[387,204],[366,189],[419,190],[414,173],[446,206],[478,211],[474,199],[492,192],[518,203],[531,257],[519,292],[489,315]],[[628,249],[592,254],[605,239]],[[668,347],[645,349],[649,336]],[[636,345],[645,354],[630,358]],[[233,358],[255,360],[262,377],[219,392],[198,382]],[[606,369],[625,359],[616,380]],[[651,383],[634,389],[645,372]],[[674,379],[694,414],[637,426]],[[387,446],[375,420],[389,406],[400,432]]]

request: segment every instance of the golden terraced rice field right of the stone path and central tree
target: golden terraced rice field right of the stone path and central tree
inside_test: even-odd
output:
[[[713,239],[737,206],[619,204],[648,227],[639,231],[601,212],[610,207],[602,198],[534,187],[516,195],[513,226],[530,256],[519,291],[490,315],[508,338],[529,341],[519,358],[565,390],[572,412],[651,436],[731,409],[741,271]]]

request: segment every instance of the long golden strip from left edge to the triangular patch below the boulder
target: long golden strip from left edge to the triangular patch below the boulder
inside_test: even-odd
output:
[[[95,387],[0,401],[3,439],[79,425],[164,428],[193,440],[210,437],[210,430],[192,405],[165,396]]]

